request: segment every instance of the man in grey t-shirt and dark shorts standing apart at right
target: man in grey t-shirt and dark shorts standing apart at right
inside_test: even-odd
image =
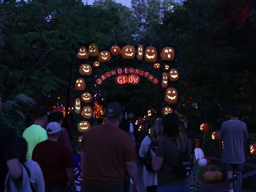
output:
[[[221,167],[227,171],[227,179],[232,178],[233,174],[242,173],[245,162],[244,142],[248,138],[246,124],[238,120],[239,108],[230,107],[229,112],[230,120],[223,122],[220,128],[220,140],[223,141]],[[233,192],[233,183],[228,188],[229,192]]]

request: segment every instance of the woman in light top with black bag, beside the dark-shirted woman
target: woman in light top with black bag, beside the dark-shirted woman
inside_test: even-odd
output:
[[[152,170],[152,157],[148,145],[151,145],[154,148],[157,148],[158,143],[160,142],[160,135],[162,134],[162,119],[158,119],[154,122],[153,127],[151,128],[150,135],[147,135],[141,142],[139,155],[144,160],[143,166],[143,185],[146,187],[147,192],[156,192],[157,187],[157,172]],[[149,152],[151,161],[146,158],[146,154]],[[148,161],[148,162],[147,162]],[[150,168],[148,168],[150,166]],[[148,170],[147,170],[148,169]]]

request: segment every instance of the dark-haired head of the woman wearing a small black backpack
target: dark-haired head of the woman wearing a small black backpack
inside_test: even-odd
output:
[[[175,113],[169,113],[163,117],[162,125],[163,125],[163,135],[176,139],[179,135],[179,124],[180,118]]]

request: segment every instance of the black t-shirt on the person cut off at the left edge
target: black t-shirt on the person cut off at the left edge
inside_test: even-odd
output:
[[[4,190],[4,180],[8,172],[7,160],[20,158],[20,149],[16,131],[0,124],[0,191]]]

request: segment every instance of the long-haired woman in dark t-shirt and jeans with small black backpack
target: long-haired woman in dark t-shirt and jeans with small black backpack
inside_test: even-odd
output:
[[[177,114],[163,117],[163,134],[156,153],[152,154],[152,168],[157,171],[157,192],[175,190],[188,192],[189,177],[192,168],[191,143]]]

